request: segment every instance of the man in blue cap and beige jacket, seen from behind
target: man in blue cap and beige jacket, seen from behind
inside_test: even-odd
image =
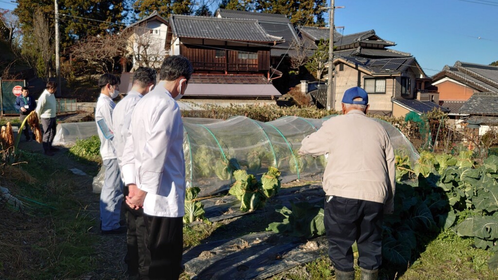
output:
[[[362,280],[377,280],[383,214],[394,210],[394,153],[384,128],[366,116],[368,103],[365,90],[348,89],[343,115],[324,122],[299,149],[300,154],[328,156],[324,222],[336,280],[355,279],[355,241]]]

